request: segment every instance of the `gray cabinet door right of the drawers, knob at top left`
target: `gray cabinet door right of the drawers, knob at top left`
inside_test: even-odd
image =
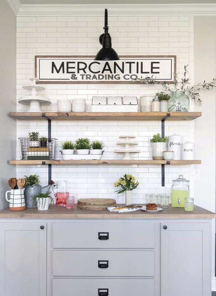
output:
[[[210,223],[161,223],[161,296],[211,295],[210,230]]]

